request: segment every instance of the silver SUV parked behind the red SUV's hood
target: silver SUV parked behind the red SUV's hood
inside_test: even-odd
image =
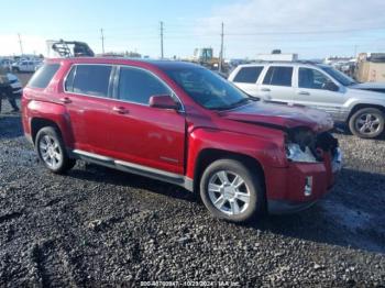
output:
[[[300,62],[240,65],[229,80],[253,97],[321,109],[360,137],[374,139],[384,132],[384,93],[362,89],[331,66]]]

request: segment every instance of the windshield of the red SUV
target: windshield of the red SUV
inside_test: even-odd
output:
[[[206,68],[165,68],[164,71],[197,103],[207,109],[228,110],[253,100]]]

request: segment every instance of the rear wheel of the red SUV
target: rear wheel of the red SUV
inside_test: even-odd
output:
[[[37,132],[35,146],[44,166],[55,174],[63,174],[76,164],[75,159],[68,157],[62,136],[52,126]]]

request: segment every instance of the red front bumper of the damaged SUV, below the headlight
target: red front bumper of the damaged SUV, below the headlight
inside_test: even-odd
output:
[[[284,171],[285,175],[282,175],[285,180],[273,185],[273,189],[278,190],[275,193],[272,190],[273,195],[270,195],[267,189],[268,213],[294,213],[311,207],[328,193],[341,168],[340,148],[337,148],[332,158],[328,157],[323,163],[290,163]]]

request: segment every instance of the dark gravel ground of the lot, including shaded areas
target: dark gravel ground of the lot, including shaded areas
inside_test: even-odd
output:
[[[53,175],[1,114],[0,286],[385,287],[385,141],[337,136],[345,165],[324,199],[237,225],[160,181],[82,162]]]

